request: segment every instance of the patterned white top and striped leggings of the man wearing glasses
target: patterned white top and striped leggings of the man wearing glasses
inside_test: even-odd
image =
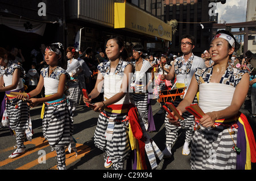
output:
[[[176,88],[187,87],[188,89],[191,78],[193,77],[193,74],[195,73],[197,68],[205,68],[204,60],[200,57],[195,56],[193,53],[192,56],[189,57],[187,62],[184,61],[184,56],[176,58],[174,62]],[[185,92],[186,91],[187,90],[185,90]],[[177,105],[179,105],[180,102],[181,100],[176,100],[174,102],[174,106],[176,107]],[[193,103],[197,103],[196,97],[193,100]],[[187,142],[186,144],[189,144],[192,138],[193,122],[195,120],[194,116],[188,112],[184,112],[184,120],[179,120],[181,127],[177,127],[169,123],[167,115],[168,113],[166,112],[166,118],[164,120],[166,126],[166,147],[172,148],[174,142],[177,140],[177,131],[179,131],[181,127],[184,127],[186,129],[185,142]],[[185,150],[183,150],[183,152],[185,152]],[[186,153],[184,154],[187,155]]]

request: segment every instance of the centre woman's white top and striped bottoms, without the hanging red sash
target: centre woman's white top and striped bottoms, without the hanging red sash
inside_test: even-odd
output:
[[[104,77],[104,100],[111,98],[120,91],[123,79],[123,71],[129,62],[119,60],[114,73],[110,73],[110,61],[102,62],[98,65],[98,70]],[[127,131],[129,129],[129,120],[125,105],[129,105],[129,92],[119,100],[105,108],[98,117],[96,131],[94,133],[94,144],[97,148],[105,151],[105,159],[110,157],[113,162],[114,170],[123,169],[123,163],[130,153],[129,139]],[[121,107],[117,110],[111,106]],[[108,109],[109,108],[109,109]]]

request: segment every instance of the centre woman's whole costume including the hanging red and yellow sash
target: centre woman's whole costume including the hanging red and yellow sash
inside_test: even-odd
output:
[[[110,61],[98,65],[98,70],[104,77],[105,100],[120,91],[123,71],[128,64],[130,63],[119,60],[114,73],[110,73]],[[144,140],[137,108],[130,103],[129,92],[117,103],[105,107],[100,113],[94,133],[94,144],[105,151],[105,159],[108,161],[108,157],[110,158],[115,170],[123,169],[123,163],[129,157],[131,150],[134,158],[131,163],[133,169],[147,168],[144,152],[145,145],[150,145],[150,140]],[[152,154],[154,155],[153,151]],[[152,163],[155,163],[154,160]]]

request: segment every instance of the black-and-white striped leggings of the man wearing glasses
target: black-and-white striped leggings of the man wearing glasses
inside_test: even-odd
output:
[[[197,103],[197,98],[194,99],[193,104]],[[179,102],[175,102],[174,106],[177,107]],[[170,110],[171,111],[171,110]],[[172,112],[172,111],[171,111]],[[177,132],[184,127],[185,129],[185,141],[190,143],[192,139],[193,133],[193,123],[195,121],[195,117],[191,115],[189,112],[184,112],[183,117],[184,120],[180,120],[181,127],[176,127],[169,123],[169,119],[167,118],[168,113],[166,113],[166,118],[164,119],[164,124],[166,127],[166,146],[172,148],[175,141],[177,140]]]

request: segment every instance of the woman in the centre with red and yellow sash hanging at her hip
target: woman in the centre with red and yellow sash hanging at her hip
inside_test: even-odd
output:
[[[96,106],[94,111],[101,112],[94,133],[94,144],[105,151],[106,168],[112,166],[115,170],[123,169],[123,163],[129,157],[131,148],[136,151],[132,154],[137,158],[137,165],[133,168],[146,169],[144,157],[146,145],[148,149],[154,148],[158,155],[161,152],[154,143],[150,142],[150,139],[144,138],[137,108],[130,103],[129,73],[133,72],[133,66],[125,61],[128,53],[121,37],[112,36],[106,40],[106,54],[109,61],[98,65],[98,78],[89,94],[89,99],[83,97],[85,103],[90,103],[92,99],[97,98],[104,85],[104,101],[94,104]],[[150,159],[154,164],[152,168],[155,168],[157,164],[154,151],[151,152]]]

